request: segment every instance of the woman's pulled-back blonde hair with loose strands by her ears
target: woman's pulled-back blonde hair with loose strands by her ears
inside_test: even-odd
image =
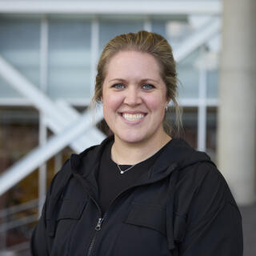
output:
[[[182,130],[182,109],[178,106],[177,101],[178,78],[176,63],[170,44],[166,41],[166,38],[163,38],[160,34],[142,30],[138,31],[138,33],[120,34],[106,43],[98,61],[98,73],[96,75],[94,97],[92,98],[91,106],[95,106],[97,103],[101,102],[102,85],[106,78],[107,66],[110,59],[114,54],[125,50],[147,53],[157,60],[162,80],[166,84],[166,98],[174,103],[176,133],[179,134],[180,130]],[[172,107],[169,107],[166,114],[170,112],[171,109]],[[173,135],[174,129],[167,120],[167,115],[165,115],[163,121],[163,128],[166,134]]]

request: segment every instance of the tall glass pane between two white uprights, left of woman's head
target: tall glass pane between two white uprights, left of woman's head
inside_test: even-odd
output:
[[[48,24],[48,94],[51,98],[88,97],[91,73],[90,20],[51,18]]]

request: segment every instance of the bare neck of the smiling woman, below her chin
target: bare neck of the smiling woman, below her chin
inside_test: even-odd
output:
[[[163,133],[161,137],[158,136],[145,142],[134,143],[124,142],[115,135],[111,157],[119,165],[134,165],[150,158],[170,140],[170,136],[166,133]]]

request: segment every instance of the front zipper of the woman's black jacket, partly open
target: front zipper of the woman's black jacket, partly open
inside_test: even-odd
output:
[[[173,168],[173,170],[174,170],[174,168]],[[164,178],[166,178],[166,176],[165,176],[165,177],[162,177],[162,178],[159,178],[159,179],[156,179],[154,182],[159,182],[159,181],[161,181],[161,180],[164,179]],[[106,210],[106,213],[103,215],[103,217],[102,217],[102,218],[98,218],[97,225],[95,226],[95,230],[96,230],[96,231],[94,232],[94,237],[93,237],[92,241],[90,242],[90,247],[89,247],[87,256],[91,256],[91,255],[92,255],[92,252],[93,252],[93,249],[94,249],[95,240],[96,240],[97,234],[98,234],[97,231],[100,231],[100,230],[102,229],[102,222],[106,219],[106,216],[108,215],[111,206],[113,206],[114,201],[115,201],[117,198],[119,198],[119,196],[121,196],[122,194],[126,193],[126,192],[127,192],[128,190],[130,190],[130,189],[133,189],[133,188],[135,188],[135,187],[137,187],[137,186],[148,185],[148,184],[151,184],[151,183],[154,183],[154,182],[145,182],[145,183],[141,183],[141,184],[138,184],[138,185],[130,186],[130,187],[126,188],[126,190],[123,190],[122,192],[120,192],[120,193],[111,201],[110,206],[109,206],[108,210]],[[96,200],[95,200],[94,198],[92,198],[92,197],[90,197],[90,198],[94,201],[95,205],[97,206],[97,208],[98,208],[98,210],[99,210],[99,212],[101,213],[101,216],[102,216],[102,210],[101,210],[101,208],[98,206],[98,202],[96,202]]]

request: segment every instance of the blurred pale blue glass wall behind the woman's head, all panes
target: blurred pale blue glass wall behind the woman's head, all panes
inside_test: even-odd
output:
[[[0,54],[15,69],[29,79],[34,86],[41,86],[40,75],[46,76],[46,92],[50,98],[64,98],[69,102],[90,100],[92,71],[95,66],[91,42],[92,34],[98,34],[98,55],[102,47],[117,34],[136,32],[150,23],[151,30],[165,36],[174,52],[185,38],[193,34],[194,27],[187,18],[151,18],[138,16],[121,18],[99,17],[98,31],[93,31],[94,18],[1,18]],[[44,24],[44,25],[43,25]],[[42,26],[47,26],[42,30]],[[43,46],[46,42],[46,46]],[[198,98],[198,61],[200,50],[194,50],[178,62],[180,98]],[[26,62],[24,62],[26,59]],[[46,62],[45,74],[40,73]],[[42,71],[42,70],[41,70]],[[207,75],[207,98],[218,98],[218,70],[211,68]],[[17,98],[19,93],[3,78],[0,78],[0,98]]]

